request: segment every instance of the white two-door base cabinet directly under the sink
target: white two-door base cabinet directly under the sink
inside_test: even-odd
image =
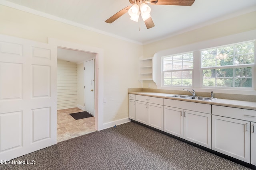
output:
[[[208,104],[164,99],[164,131],[211,149],[210,113]]]

